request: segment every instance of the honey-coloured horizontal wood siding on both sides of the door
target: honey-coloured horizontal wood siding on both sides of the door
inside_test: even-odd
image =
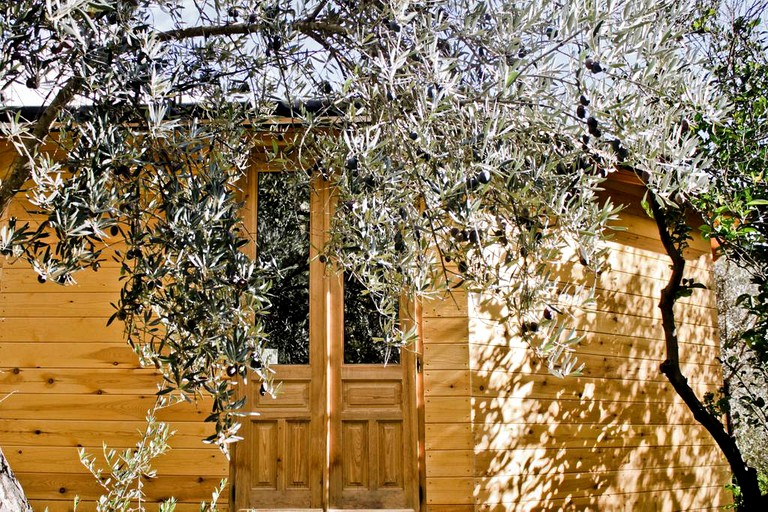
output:
[[[0,151],[0,173],[2,164]],[[18,204],[12,212],[29,217]],[[622,222],[629,230],[611,243],[598,301],[576,319],[586,364],[579,378],[549,375],[476,295],[456,290],[422,304],[427,511],[709,510],[728,502],[725,461],[658,370],[656,303],[669,263],[642,211],[628,209]],[[706,244],[688,257],[686,277],[711,287]],[[560,275],[579,282],[584,272],[564,265]],[[119,325],[105,325],[118,277],[107,261],[76,286],[39,284],[25,264],[0,258],[0,446],[35,510],[70,511],[76,495],[81,510],[92,510],[101,489],[77,448],[132,446],[154,402],[156,374],[139,368]],[[713,292],[697,291],[678,311],[683,370],[699,393],[714,391]],[[198,510],[228,474],[224,457],[201,443],[208,405],[159,414],[177,434],[146,490],[153,500],[175,496],[180,512]]]

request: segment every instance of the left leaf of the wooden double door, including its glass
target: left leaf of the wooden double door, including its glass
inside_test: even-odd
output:
[[[256,259],[274,271],[270,335],[275,397],[247,387],[243,441],[233,457],[233,509],[319,509],[327,479],[327,384],[324,368],[326,283],[317,256],[327,193],[281,173],[258,173],[249,190]]]

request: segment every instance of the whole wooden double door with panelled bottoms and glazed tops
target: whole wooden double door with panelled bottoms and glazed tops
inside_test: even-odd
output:
[[[279,183],[274,192],[284,203],[291,195],[284,179],[265,175],[258,180],[255,210],[262,234],[257,250],[272,262],[301,261],[301,255],[287,255],[292,250],[288,238],[304,232],[308,265],[303,284],[279,282],[273,291],[276,301],[287,302],[282,318],[278,304],[274,324],[267,326],[276,347],[271,350],[277,364],[271,367],[280,384],[275,397],[263,395],[258,383],[249,387],[249,407],[257,415],[243,418],[244,440],[233,458],[233,508],[416,510],[413,355],[360,339],[371,318],[353,317],[365,311],[353,283],[316,257],[333,211],[326,186],[313,187],[306,204],[301,191],[294,193],[299,200],[293,208],[304,207],[304,214],[296,222],[270,225],[267,216],[275,215],[275,205],[267,189]],[[291,205],[283,215],[293,215]],[[308,230],[297,229],[302,222]],[[275,237],[279,256],[269,254],[269,236]],[[296,293],[304,284],[306,293]],[[289,321],[295,325],[286,327]],[[356,321],[365,324],[362,329],[349,327]]]

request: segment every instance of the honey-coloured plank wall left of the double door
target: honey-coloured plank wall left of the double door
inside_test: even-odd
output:
[[[11,213],[25,215],[18,204]],[[133,446],[158,377],[139,367],[119,323],[106,327],[119,290],[114,262],[62,287],[38,283],[23,262],[3,260],[0,447],[35,510],[70,511],[75,496],[83,500],[79,510],[93,510],[101,489],[77,449],[98,456],[102,443]],[[199,510],[228,475],[224,456],[202,443],[212,431],[202,421],[209,410],[206,403],[182,404],[158,415],[177,433],[171,451],[155,462],[157,477],[145,480],[146,491],[152,499],[176,497],[180,512]]]

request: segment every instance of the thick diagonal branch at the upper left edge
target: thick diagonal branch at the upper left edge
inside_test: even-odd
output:
[[[0,185],[0,216],[5,213],[13,197],[21,190],[24,183],[32,177],[32,166],[30,164],[33,155],[40,149],[43,140],[48,136],[51,126],[53,126],[59,113],[80,92],[82,86],[83,80],[81,78],[70,78],[38,118],[32,133],[22,137],[24,144],[23,152],[19,152],[16,156],[8,177]]]

